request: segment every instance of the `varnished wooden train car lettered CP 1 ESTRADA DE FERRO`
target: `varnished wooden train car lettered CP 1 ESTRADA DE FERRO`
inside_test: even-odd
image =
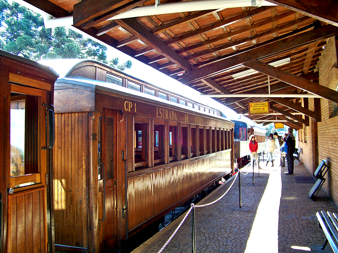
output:
[[[93,60],[57,80],[56,250],[118,250],[128,236],[234,172],[233,122],[149,89],[155,88]]]

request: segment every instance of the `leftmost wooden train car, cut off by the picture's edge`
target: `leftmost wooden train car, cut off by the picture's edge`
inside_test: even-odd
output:
[[[50,104],[58,75],[4,51],[0,69],[0,252],[47,253],[53,247]]]

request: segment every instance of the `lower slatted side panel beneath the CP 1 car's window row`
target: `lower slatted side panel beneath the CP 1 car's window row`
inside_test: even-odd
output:
[[[128,179],[128,229],[231,172],[231,150]]]

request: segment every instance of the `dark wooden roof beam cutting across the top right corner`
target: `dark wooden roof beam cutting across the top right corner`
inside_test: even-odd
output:
[[[338,8],[335,0],[310,0],[306,4],[298,0],[269,0],[269,2],[338,26]]]

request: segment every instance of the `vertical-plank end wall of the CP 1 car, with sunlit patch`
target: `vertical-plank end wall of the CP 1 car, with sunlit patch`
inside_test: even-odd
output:
[[[88,113],[55,114],[55,244],[87,248]]]

